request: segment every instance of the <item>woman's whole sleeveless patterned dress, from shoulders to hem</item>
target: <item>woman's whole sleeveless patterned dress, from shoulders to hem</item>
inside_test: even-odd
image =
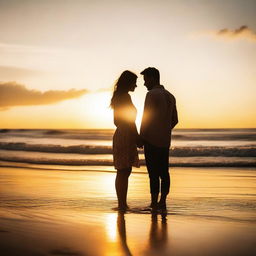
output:
[[[135,125],[137,110],[131,96],[119,95],[114,104],[114,123],[116,131],[113,136],[113,160],[115,169],[139,167],[136,145],[137,130]]]

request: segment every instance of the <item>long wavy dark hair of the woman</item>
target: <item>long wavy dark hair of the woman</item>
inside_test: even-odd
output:
[[[115,86],[114,86],[114,92],[113,96],[111,98],[110,107],[115,107],[115,102],[119,98],[120,95],[127,93],[129,90],[129,86],[136,82],[137,75],[132,73],[129,70],[125,70],[120,77],[117,79]]]

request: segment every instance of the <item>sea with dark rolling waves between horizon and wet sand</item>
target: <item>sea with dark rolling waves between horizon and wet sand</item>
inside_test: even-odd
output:
[[[0,165],[45,169],[111,169],[112,129],[2,129]],[[139,150],[145,165],[143,150]],[[256,129],[177,129],[173,167],[256,167]]]

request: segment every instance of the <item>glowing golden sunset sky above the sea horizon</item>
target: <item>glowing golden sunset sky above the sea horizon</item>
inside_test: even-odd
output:
[[[0,0],[0,128],[114,128],[126,69],[139,127],[147,67],[177,128],[255,128],[255,13],[255,0]]]

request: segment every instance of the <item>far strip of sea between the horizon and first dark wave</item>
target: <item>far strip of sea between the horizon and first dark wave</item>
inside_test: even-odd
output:
[[[113,129],[0,129],[0,135],[8,135],[14,137],[35,137],[35,138],[59,138],[59,139],[76,139],[76,140],[111,140],[113,137]],[[178,141],[255,141],[255,129],[178,129],[172,133],[172,139]]]

